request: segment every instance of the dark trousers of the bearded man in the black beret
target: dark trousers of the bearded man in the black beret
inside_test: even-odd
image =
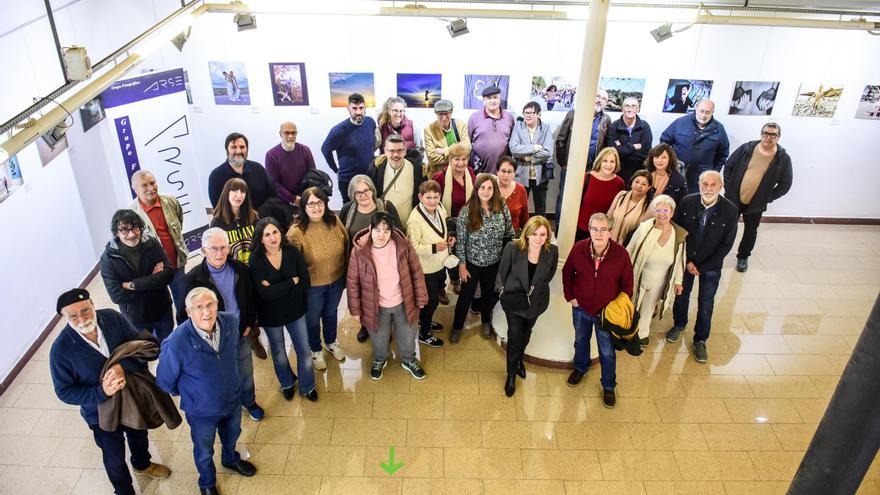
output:
[[[117,495],[134,495],[131,473],[125,464],[125,440],[131,451],[131,466],[137,470],[150,467],[149,440],[147,430],[134,430],[120,426],[116,431],[104,431],[98,425],[89,425],[95,436],[95,444],[101,449],[104,458],[104,469],[113,492]]]

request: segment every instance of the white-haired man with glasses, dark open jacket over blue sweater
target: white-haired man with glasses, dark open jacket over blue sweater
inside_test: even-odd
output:
[[[247,265],[229,256],[229,239],[218,227],[202,234],[205,258],[186,274],[187,293],[205,287],[217,297],[219,311],[238,318],[238,370],[241,373],[241,405],[254,421],[263,419],[263,408],[257,404],[254,390],[254,362],[251,357],[250,334],[257,328],[254,288]]]

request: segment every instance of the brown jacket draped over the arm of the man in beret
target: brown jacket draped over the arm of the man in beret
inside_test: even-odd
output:
[[[120,344],[104,363],[101,380],[113,365],[125,358],[152,361],[159,357],[159,344],[154,340],[129,340]],[[148,370],[125,375],[125,387],[98,404],[98,426],[104,431],[116,431],[120,425],[135,430],[169,429],[181,423],[180,413],[171,396],[156,385],[156,377]]]

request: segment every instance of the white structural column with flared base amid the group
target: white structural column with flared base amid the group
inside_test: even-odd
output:
[[[608,25],[610,0],[590,0],[590,13],[584,32],[584,49],[578,92],[575,97],[574,123],[571,129],[571,146],[568,152],[568,171],[565,178],[565,194],[562,198],[562,218],[559,226],[559,270],[550,284],[550,307],[535,324],[526,359],[550,362],[558,365],[571,363],[574,358],[574,327],[571,321],[571,305],[562,294],[562,263],[574,245],[581,190],[584,186],[590,131],[595,115],[596,91],[599,87],[599,71],[602,67],[602,50],[605,47],[605,28]],[[495,311],[493,326],[499,338],[507,339],[507,321],[504,312]],[[599,355],[596,339],[590,339],[590,357]]]

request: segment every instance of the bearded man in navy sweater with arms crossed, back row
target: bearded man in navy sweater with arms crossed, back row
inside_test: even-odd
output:
[[[365,115],[366,102],[363,95],[350,94],[346,108],[349,118],[333,126],[321,145],[321,154],[327,160],[327,165],[337,174],[336,182],[343,204],[351,200],[348,197],[348,183],[351,178],[369,171],[373,165],[373,152],[376,150],[376,121]],[[333,157],[334,151],[336,158]],[[336,164],[337,159],[339,165]]]

